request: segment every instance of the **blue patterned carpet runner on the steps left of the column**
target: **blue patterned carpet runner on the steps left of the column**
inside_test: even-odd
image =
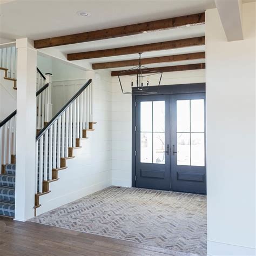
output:
[[[0,215],[14,217],[15,212],[15,164],[5,165],[0,174]]]

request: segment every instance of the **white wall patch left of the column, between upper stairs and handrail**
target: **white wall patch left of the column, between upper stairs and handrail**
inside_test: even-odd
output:
[[[0,70],[0,121],[16,110],[17,91],[14,82],[4,79],[4,71]]]

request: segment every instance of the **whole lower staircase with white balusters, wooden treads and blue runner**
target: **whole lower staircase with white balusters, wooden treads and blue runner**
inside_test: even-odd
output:
[[[68,169],[66,161],[75,158],[80,140],[87,139],[96,124],[92,122],[91,79],[49,120],[49,84],[37,72],[35,215],[39,199],[51,192],[50,183],[59,180],[59,171]],[[16,113],[0,123],[0,215],[11,218],[15,217]]]

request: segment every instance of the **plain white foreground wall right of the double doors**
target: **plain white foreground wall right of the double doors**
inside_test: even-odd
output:
[[[227,42],[206,11],[208,253],[255,250],[255,3],[242,5],[244,40]]]

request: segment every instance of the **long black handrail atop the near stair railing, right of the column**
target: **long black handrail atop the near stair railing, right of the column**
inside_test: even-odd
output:
[[[36,142],[44,135],[50,126],[68,109],[68,107],[75,101],[75,99],[90,85],[92,79],[89,79],[81,89],[62,107],[62,109],[50,120],[50,122],[37,134]]]

